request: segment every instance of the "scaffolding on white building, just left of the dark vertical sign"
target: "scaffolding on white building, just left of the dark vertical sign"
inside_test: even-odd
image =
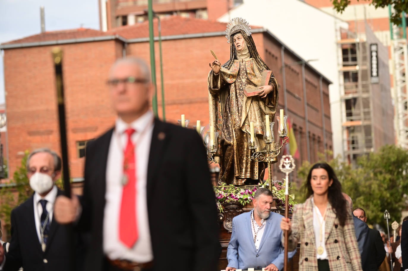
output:
[[[358,156],[373,150],[368,45],[363,36],[346,30],[337,44],[344,158],[355,164]]]

